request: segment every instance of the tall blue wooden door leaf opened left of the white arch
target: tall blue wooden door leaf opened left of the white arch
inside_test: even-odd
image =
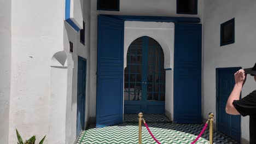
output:
[[[96,127],[123,122],[124,21],[98,16]]]

